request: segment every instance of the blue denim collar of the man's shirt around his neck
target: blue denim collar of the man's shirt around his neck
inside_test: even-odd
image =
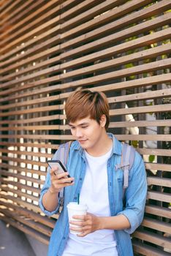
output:
[[[107,133],[108,137],[111,138],[113,140],[113,151],[112,154],[118,154],[121,155],[122,154],[122,148],[121,148],[121,142],[117,140],[117,138],[115,138],[115,136],[112,133]],[[83,153],[83,148],[81,148],[79,142],[77,140],[75,140],[75,143],[73,145],[73,149],[80,151],[80,153]]]

